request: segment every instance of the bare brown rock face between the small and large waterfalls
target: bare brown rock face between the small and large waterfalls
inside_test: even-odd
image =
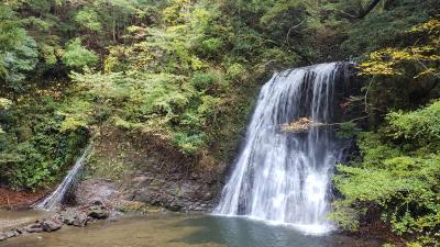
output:
[[[170,211],[208,211],[221,189],[226,166],[197,164],[204,162],[157,139],[106,128],[95,139],[86,179],[76,188],[76,201],[80,204],[97,199],[119,205],[139,202]]]

